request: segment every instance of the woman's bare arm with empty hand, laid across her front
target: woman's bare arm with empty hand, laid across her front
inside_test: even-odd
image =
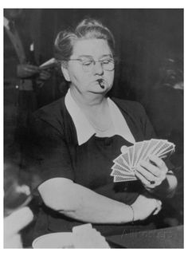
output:
[[[47,207],[87,223],[129,223],[133,219],[146,219],[159,208],[158,200],[141,196],[132,210],[124,203],[64,178],[49,179],[38,187],[38,191]]]

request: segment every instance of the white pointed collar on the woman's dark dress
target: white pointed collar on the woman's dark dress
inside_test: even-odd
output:
[[[124,119],[122,113],[116,104],[108,98],[108,105],[110,108],[110,113],[112,116],[112,123],[115,128],[115,134],[122,136],[125,140],[128,140],[131,143],[135,143],[135,139],[131,134],[130,129],[127,126],[127,122]],[[72,98],[70,89],[65,96],[65,106],[69,112],[69,115],[72,117],[73,123],[76,127],[76,135],[78,144],[84,144],[87,142],[94,134],[96,134],[95,129],[92,127],[92,124],[89,123],[88,119],[81,111],[80,107],[76,104],[76,101]]]

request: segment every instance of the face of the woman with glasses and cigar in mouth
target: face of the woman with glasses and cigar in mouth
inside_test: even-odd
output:
[[[114,80],[114,70],[104,70],[99,61],[107,63],[112,59],[112,51],[108,42],[104,39],[82,39],[76,41],[73,53],[66,69],[62,69],[67,81],[71,81],[73,89],[80,93],[107,93]],[[81,61],[75,61],[80,59]],[[89,63],[94,60],[92,69],[88,69]],[[84,61],[84,62],[83,62]],[[107,62],[106,62],[107,61]],[[83,66],[84,63],[84,66]],[[103,79],[104,88],[101,88],[97,80]]]

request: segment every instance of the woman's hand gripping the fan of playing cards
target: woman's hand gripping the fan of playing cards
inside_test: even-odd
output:
[[[140,161],[135,169],[136,177],[143,183],[147,190],[158,187],[166,179],[168,168],[166,163],[157,156],[150,156],[149,162]]]

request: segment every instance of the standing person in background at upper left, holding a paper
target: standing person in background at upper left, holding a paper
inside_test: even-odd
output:
[[[4,149],[12,150],[15,131],[22,140],[23,128],[37,109],[35,89],[50,77],[36,65],[34,42],[29,35],[25,11],[4,10]]]

